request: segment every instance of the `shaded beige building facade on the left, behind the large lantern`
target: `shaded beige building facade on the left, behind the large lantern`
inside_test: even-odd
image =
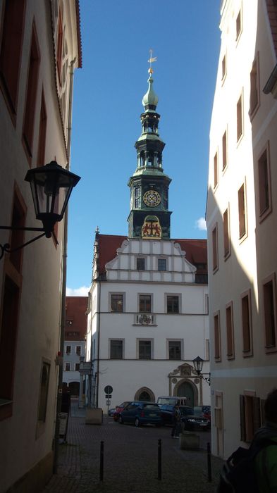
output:
[[[1,226],[42,226],[24,179],[50,161],[68,168],[81,65],[77,0],[1,2]],[[56,238],[16,250],[37,233],[0,230],[16,250],[0,252],[1,493],[37,493],[53,472],[65,233],[56,223]]]

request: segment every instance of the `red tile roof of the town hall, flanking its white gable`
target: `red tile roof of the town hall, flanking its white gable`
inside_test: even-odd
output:
[[[98,235],[100,274],[105,273],[106,263],[116,257],[116,250],[121,247],[125,239],[128,239],[128,237],[119,235]],[[190,263],[193,265],[202,263],[205,264],[207,268],[207,239],[171,238],[171,241],[180,244],[181,249],[186,252],[186,258]]]

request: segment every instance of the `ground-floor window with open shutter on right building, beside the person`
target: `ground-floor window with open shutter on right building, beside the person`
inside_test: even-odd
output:
[[[261,403],[252,391],[240,395],[240,439],[251,442],[254,432],[261,426]]]

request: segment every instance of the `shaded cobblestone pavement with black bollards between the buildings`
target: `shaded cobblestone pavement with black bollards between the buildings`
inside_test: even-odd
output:
[[[67,444],[59,447],[58,474],[42,493],[214,493],[222,461],[212,457],[207,480],[207,452],[183,451],[170,428],[135,428],[104,417],[85,425],[85,410],[73,405]],[[202,437],[204,437],[202,432]],[[158,439],[161,438],[161,480]],[[100,442],[104,441],[104,480],[99,480]],[[201,442],[205,447],[204,438]],[[200,446],[201,446],[200,445]]]

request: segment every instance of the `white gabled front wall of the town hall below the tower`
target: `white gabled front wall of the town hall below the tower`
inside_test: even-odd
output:
[[[101,236],[101,235],[100,235]],[[173,240],[125,239],[101,277],[97,237],[87,325],[87,361],[92,358],[92,406],[107,411],[104,387],[111,385],[111,406],[138,399],[146,391],[156,401],[162,395],[187,395],[187,404],[209,404],[209,385],[197,378],[192,359],[204,359],[209,373],[207,285],[195,283],[195,266]],[[144,270],[137,270],[144,258]],[[158,258],[166,270],[158,270]],[[122,294],[121,313],[111,311],[111,297]],[[140,295],[151,299],[151,310],[140,311]],[[167,297],[178,297],[178,313],[167,313]],[[143,316],[145,318],[143,319]],[[122,341],[121,357],[111,357],[112,341]],[[151,346],[142,359],[140,342]],[[171,359],[169,342],[180,344],[180,357]],[[90,385],[90,382],[89,382]]]

